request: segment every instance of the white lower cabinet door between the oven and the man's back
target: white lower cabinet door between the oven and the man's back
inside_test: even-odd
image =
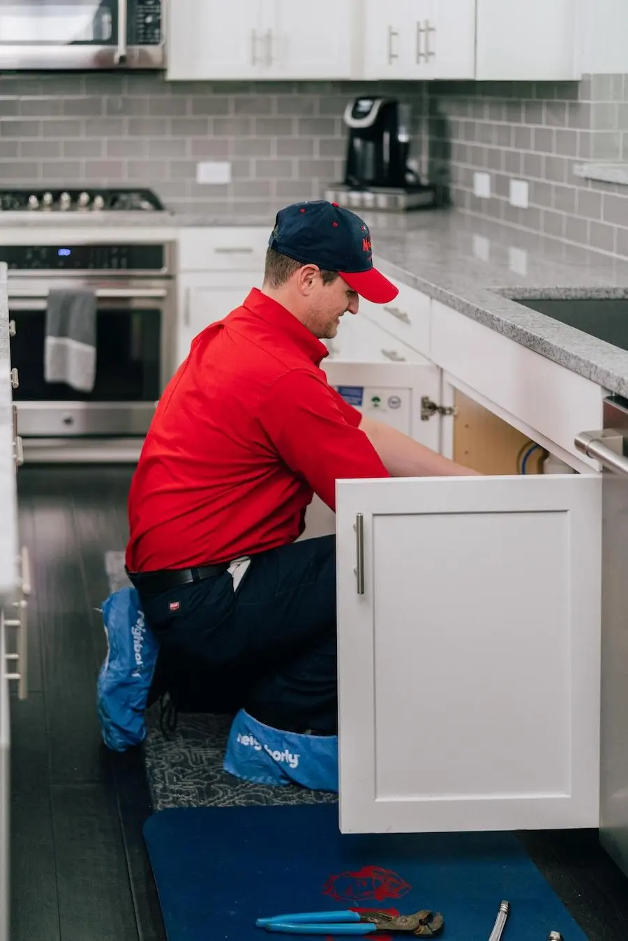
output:
[[[259,275],[257,280],[261,280]],[[188,275],[180,279],[175,369],[189,353],[194,337],[208,324],[222,320],[239,307],[252,287],[260,287],[256,275],[245,272]]]

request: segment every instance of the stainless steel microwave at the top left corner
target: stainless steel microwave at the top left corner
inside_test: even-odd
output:
[[[165,0],[0,0],[0,71],[160,69]]]

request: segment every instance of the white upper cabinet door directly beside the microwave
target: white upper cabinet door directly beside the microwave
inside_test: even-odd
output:
[[[262,0],[175,0],[169,5],[169,81],[259,78],[266,62]]]

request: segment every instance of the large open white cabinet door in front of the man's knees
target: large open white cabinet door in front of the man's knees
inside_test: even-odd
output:
[[[338,482],[342,832],[598,826],[601,487]]]

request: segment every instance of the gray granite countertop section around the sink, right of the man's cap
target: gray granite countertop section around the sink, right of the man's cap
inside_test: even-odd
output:
[[[628,351],[513,298],[628,298],[628,260],[456,210],[363,214],[381,270],[628,397]]]

